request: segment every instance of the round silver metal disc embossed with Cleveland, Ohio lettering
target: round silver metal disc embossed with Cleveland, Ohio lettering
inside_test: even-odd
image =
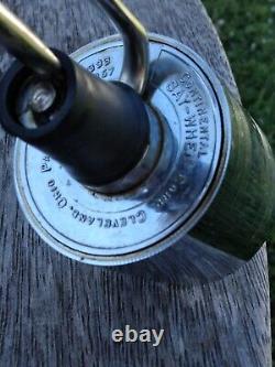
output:
[[[48,245],[79,261],[114,266],[160,252],[196,225],[218,190],[223,89],[188,47],[160,35],[150,41],[145,96],[173,139],[164,141],[158,165],[140,187],[120,195],[97,194],[50,156],[16,142],[15,186],[23,212]],[[117,80],[122,42],[107,37],[72,57],[99,77]]]

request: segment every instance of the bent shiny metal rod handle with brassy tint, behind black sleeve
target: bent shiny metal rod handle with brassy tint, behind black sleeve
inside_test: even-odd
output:
[[[97,3],[122,34],[124,61],[120,80],[142,94],[148,74],[146,31],[122,1],[97,0]],[[0,3],[0,42],[13,56],[37,74],[52,74],[61,68],[54,53],[2,3]]]

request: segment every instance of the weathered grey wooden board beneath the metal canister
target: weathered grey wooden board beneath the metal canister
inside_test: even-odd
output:
[[[66,52],[113,33],[87,0],[4,2],[50,45]],[[178,39],[201,54],[238,94],[198,0],[125,2],[150,31]],[[2,69],[8,62],[1,58]],[[211,282],[207,280],[217,272],[234,269],[234,261],[224,257],[219,262],[211,251],[205,260],[207,250],[196,244],[188,245],[189,259],[198,265],[201,257],[208,267],[198,265],[193,272],[190,266],[182,284],[77,263],[43,244],[24,219],[12,183],[12,152],[13,139],[0,130],[0,366],[272,365],[265,247],[231,276]],[[197,282],[201,271],[205,284]],[[164,341],[157,348],[114,345],[111,331],[125,324],[165,328]]]

